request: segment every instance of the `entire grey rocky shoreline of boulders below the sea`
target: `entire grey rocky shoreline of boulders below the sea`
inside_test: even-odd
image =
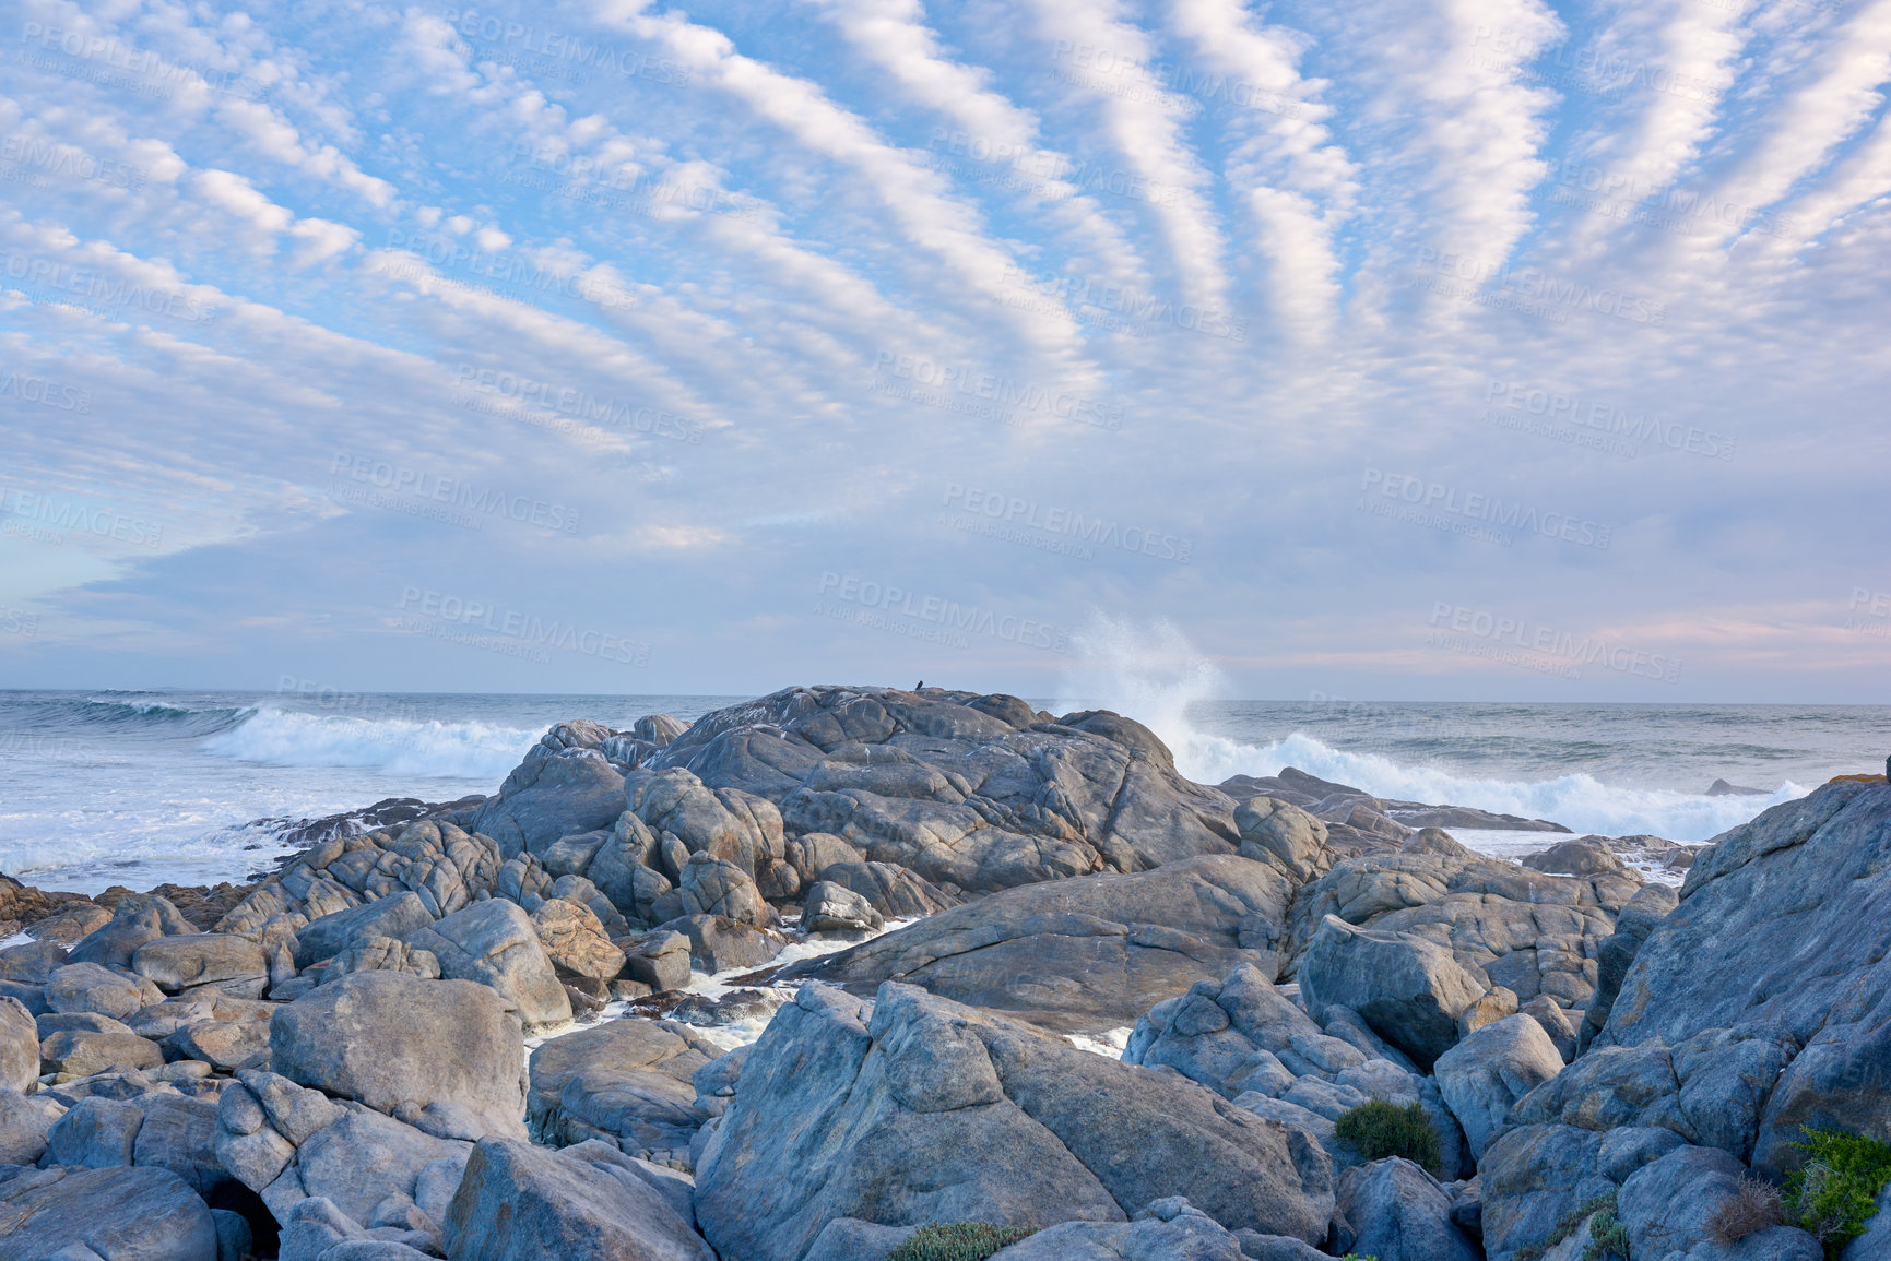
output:
[[[284,822],[0,877],[0,1257],[1891,1257],[1808,1208],[1891,1140],[1883,777],[1685,847],[823,686]]]

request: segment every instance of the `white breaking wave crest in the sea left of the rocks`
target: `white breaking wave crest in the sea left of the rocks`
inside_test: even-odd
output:
[[[357,766],[390,775],[492,779],[518,766],[539,732],[490,722],[342,718],[263,709],[202,743],[263,766]]]

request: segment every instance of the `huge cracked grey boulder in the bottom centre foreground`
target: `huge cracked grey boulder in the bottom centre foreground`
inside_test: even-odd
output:
[[[834,1219],[1125,1221],[1189,1195],[1227,1229],[1326,1238],[1331,1165],[1172,1076],[887,983],[804,985],[696,1165],[724,1255],[800,1261]]]

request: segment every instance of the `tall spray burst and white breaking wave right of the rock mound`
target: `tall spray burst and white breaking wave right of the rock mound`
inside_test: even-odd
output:
[[[1080,662],[1070,671],[1059,713],[1114,709],[1161,735],[1176,769],[1195,783],[1218,785],[1231,775],[1278,775],[1288,766],[1363,788],[1379,798],[1469,805],[1501,815],[1549,819],[1575,832],[1602,836],[1660,836],[1706,841],[1747,822],[1762,809],[1806,796],[1791,781],[1764,798],[1628,788],[1588,773],[1541,781],[1486,779],[1437,766],[1401,766],[1373,752],[1335,749],[1305,732],[1267,745],[1250,745],[1197,730],[1188,718],[1195,701],[1225,696],[1225,677],[1167,620],[1148,628],[1102,614],[1072,635]]]

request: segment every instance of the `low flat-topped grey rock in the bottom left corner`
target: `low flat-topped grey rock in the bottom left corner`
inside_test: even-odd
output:
[[[217,1257],[210,1208],[168,1168],[45,1168],[0,1183],[0,1238],[8,1257],[32,1261]]]

